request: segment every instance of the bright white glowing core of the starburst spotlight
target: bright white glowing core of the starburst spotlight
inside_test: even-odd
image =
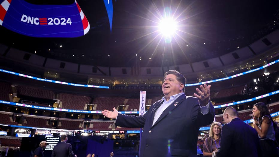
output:
[[[159,30],[164,36],[171,36],[177,30],[177,23],[171,18],[164,18],[160,21]]]

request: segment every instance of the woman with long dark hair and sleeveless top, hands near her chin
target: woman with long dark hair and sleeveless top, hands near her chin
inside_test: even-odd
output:
[[[269,114],[266,104],[259,102],[253,107],[253,126],[260,139],[261,154],[263,157],[278,157],[275,145],[276,124]]]

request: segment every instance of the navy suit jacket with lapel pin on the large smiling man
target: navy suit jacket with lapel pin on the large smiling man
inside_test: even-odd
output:
[[[118,114],[116,125],[130,128],[144,128],[141,137],[140,157],[197,156],[197,135],[200,126],[212,123],[215,110],[210,103],[209,113],[200,112],[198,99],[179,96],[164,110],[152,126],[154,113],[163,103],[152,104],[143,116]],[[174,105],[174,104],[177,105]]]

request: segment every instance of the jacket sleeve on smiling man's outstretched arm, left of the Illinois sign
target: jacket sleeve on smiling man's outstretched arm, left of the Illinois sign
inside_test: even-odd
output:
[[[143,116],[131,116],[119,113],[115,125],[127,128],[143,128],[149,110]]]

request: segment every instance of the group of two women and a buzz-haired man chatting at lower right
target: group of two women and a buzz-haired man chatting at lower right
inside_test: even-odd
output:
[[[254,104],[252,115],[254,128],[239,119],[233,107],[227,107],[223,113],[224,125],[211,124],[209,135],[203,137],[203,145],[198,146],[197,154],[201,154],[201,148],[203,156],[208,157],[278,157],[275,132],[279,130],[266,104]]]

